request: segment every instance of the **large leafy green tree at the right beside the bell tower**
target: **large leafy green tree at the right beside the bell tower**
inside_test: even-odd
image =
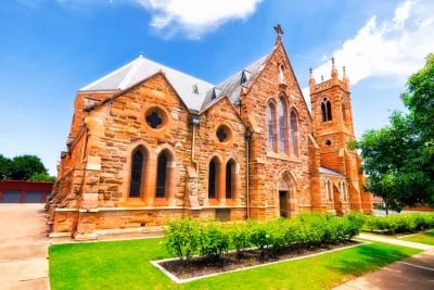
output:
[[[390,124],[366,131],[353,144],[360,149],[368,175],[366,190],[386,207],[434,205],[434,54],[411,75],[401,99],[407,114],[395,112]]]

